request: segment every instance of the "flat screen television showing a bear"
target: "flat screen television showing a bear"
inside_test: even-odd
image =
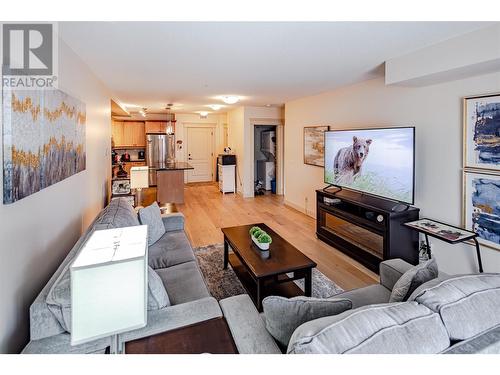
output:
[[[414,203],[415,128],[325,132],[325,183]]]

